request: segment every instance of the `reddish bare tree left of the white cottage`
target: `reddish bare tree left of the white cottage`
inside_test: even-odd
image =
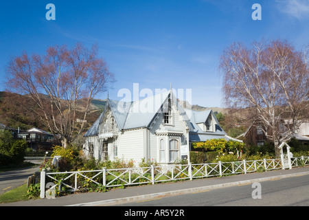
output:
[[[6,72],[9,89],[34,100],[32,109],[65,147],[82,131],[91,100],[115,81],[98,46],[89,50],[81,43],[49,47],[45,55],[24,52],[11,58]]]

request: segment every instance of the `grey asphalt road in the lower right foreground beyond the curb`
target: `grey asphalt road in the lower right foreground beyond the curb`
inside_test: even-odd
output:
[[[309,206],[309,174],[263,181],[261,199],[253,199],[252,184],[158,197],[117,206]],[[258,195],[254,192],[253,195]]]

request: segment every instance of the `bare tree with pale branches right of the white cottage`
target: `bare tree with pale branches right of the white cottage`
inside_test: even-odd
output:
[[[276,156],[281,142],[290,140],[308,111],[309,69],[305,52],[286,41],[254,42],[247,48],[233,43],[220,58],[227,106],[252,110],[251,120],[264,125]],[[288,126],[282,127],[282,120]]]

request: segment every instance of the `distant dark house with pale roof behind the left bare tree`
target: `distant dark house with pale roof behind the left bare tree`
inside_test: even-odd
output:
[[[18,137],[26,140],[28,146],[34,150],[48,151],[54,144],[58,144],[52,133],[36,128],[19,132]]]

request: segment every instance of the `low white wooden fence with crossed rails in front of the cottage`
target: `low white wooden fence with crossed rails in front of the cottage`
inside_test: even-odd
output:
[[[150,166],[142,168],[119,168],[102,170],[84,170],[72,172],[41,172],[41,198],[45,190],[54,190],[65,186],[68,190],[87,190],[93,186],[106,188],[131,186],[137,184],[156,184],[163,181],[179,181],[203,177],[215,177],[240,173],[251,173],[282,169],[281,159],[242,160],[239,162],[218,162],[211,164],[173,164],[168,166]],[[292,167],[309,165],[309,157],[295,157],[290,162]]]

